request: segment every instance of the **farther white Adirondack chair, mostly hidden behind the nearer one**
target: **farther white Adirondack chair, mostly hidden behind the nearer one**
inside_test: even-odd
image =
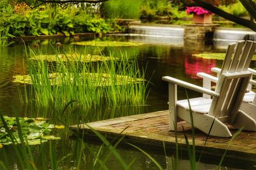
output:
[[[249,55],[251,55],[251,53],[253,54],[256,48],[255,42],[254,43],[250,42],[250,43],[248,42],[247,50],[244,52]],[[250,45],[252,45],[251,49],[249,49]],[[218,77],[220,77],[220,73],[221,73],[221,68],[214,67],[214,68],[211,68],[211,71],[217,73],[217,77],[214,77],[212,75],[209,75],[203,72],[196,73],[198,77],[203,78],[203,87],[207,89],[211,89],[211,82],[216,83],[218,81]],[[256,70],[253,70],[252,68],[248,68],[248,71],[250,71],[252,75],[256,75]],[[244,111],[254,120],[256,120],[256,93],[252,91],[252,86],[256,86],[256,81],[252,80],[252,77],[251,77],[250,83],[248,84],[248,87],[247,87],[248,92],[244,94],[244,98],[243,98],[243,102],[241,104],[240,110]],[[211,98],[210,95],[204,95],[204,97]]]

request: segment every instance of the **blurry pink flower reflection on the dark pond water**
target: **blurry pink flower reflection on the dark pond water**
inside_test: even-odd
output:
[[[184,67],[186,75],[193,79],[201,79],[200,77],[196,76],[198,72],[204,73],[212,73],[211,68],[215,67],[216,63],[214,59],[202,59],[202,58],[195,58],[189,59],[185,58]]]

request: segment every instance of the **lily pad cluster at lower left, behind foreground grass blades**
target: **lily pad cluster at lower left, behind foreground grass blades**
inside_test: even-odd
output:
[[[20,130],[22,132],[22,137],[27,144],[41,144],[47,140],[60,139],[60,137],[55,137],[54,135],[49,135],[52,128],[55,128],[55,125],[47,123],[44,118],[37,120],[33,118],[19,118]],[[6,122],[7,127],[12,133],[12,136],[15,139],[14,144],[20,143],[20,136],[18,132],[16,118],[4,116],[4,121]],[[15,123],[13,123],[15,122]],[[10,125],[12,124],[12,125]],[[3,123],[0,127],[0,148],[4,145],[13,144],[13,141],[8,135],[8,130],[4,128]]]

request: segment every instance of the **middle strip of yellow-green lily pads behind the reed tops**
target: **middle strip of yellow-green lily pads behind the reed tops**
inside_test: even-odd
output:
[[[109,56],[100,56],[100,55],[92,55],[92,54],[58,54],[58,55],[38,55],[32,56],[30,59],[33,60],[44,60],[44,61],[80,61],[83,63],[88,63],[91,61],[109,61],[115,60],[117,58],[109,57]]]

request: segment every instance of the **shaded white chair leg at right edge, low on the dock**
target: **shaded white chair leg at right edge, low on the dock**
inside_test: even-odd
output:
[[[243,127],[244,130],[256,132],[256,121],[243,111],[238,111],[236,121],[232,126],[235,128]]]

